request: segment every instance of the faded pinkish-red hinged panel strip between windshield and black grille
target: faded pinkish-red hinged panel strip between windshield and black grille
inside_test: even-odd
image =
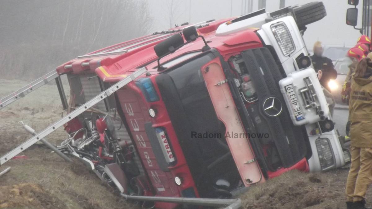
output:
[[[209,70],[204,70],[206,67]],[[201,71],[217,117],[224,123],[226,132],[244,134],[243,124],[241,124],[228,84],[218,85],[219,82],[226,79],[219,58],[215,58],[209,64],[203,66]],[[248,139],[226,136],[226,141],[244,185],[249,186],[250,184],[264,182],[265,179],[258,162],[254,160],[254,152]]]

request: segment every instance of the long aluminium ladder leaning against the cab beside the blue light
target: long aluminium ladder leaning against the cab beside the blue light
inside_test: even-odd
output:
[[[86,102],[84,105],[81,105],[80,107],[78,107],[74,111],[70,112],[69,114],[67,114],[66,116],[64,116],[60,120],[58,120],[57,122],[50,125],[48,128],[44,129],[43,131],[41,131],[38,134],[36,134],[35,136],[31,137],[27,141],[23,142],[21,145],[19,145],[18,147],[16,147],[12,151],[8,152],[6,155],[0,157],[0,165],[6,163],[6,161],[12,159],[13,157],[15,157],[17,154],[19,154],[23,150],[29,148],[31,145],[35,144],[36,142],[38,142],[39,140],[41,140],[45,136],[51,134],[52,132],[54,132],[55,130],[57,130],[61,126],[63,126],[65,123],[67,123],[70,120],[76,118],[78,115],[85,112],[85,110],[89,109],[93,105],[96,105],[97,103],[99,103],[100,101],[105,99],[106,97],[115,93],[115,91],[121,89],[121,87],[123,87],[126,84],[128,84],[129,82],[135,80],[135,78],[139,77],[140,75],[142,75],[146,71],[147,71],[146,68],[141,68],[141,69],[135,71],[134,73],[128,75],[128,77],[125,77],[121,81],[112,85],[111,87],[109,87],[105,91],[102,91],[100,94],[98,94],[93,99]]]

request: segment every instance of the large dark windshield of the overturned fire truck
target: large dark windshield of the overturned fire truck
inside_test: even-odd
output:
[[[213,53],[205,54],[156,78],[201,195],[203,190],[211,191],[215,179],[225,179],[231,185],[240,180],[224,137],[225,126],[217,118],[201,72],[202,66],[214,58]]]

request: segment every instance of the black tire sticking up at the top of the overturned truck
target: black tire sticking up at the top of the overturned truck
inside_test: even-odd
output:
[[[296,23],[299,29],[305,29],[306,25],[317,22],[327,16],[323,2],[314,1],[294,8]]]

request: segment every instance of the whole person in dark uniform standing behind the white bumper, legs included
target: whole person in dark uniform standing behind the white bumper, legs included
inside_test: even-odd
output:
[[[337,71],[334,69],[332,60],[328,57],[323,57],[323,45],[320,41],[314,44],[314,55],[310,56],[312,65],[314,66],[315,72],[318,73],[320,84],[323,86],[323,92],[327,103],[329,104],[329,111],[333,116],[333,109],[336,105],[334,98],[331,94],[331,89],[328,86],[328,82],[331,79],[337,78]]]

